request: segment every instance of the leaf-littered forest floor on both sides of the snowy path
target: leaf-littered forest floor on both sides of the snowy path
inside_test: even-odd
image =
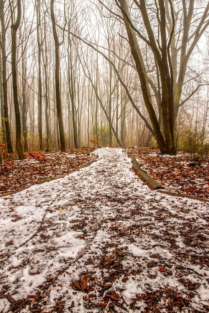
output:
[[[18,160],[16,154],[0,164],[0,196],[42,182],[46,177],[71,173],[81,164],[92,159],[92,148],[72,149],[66,153],[51,151],[35,152]],[[209,161],[196,160],[189,153],[176,156],[160,155],[159,149],[129,148],[152,178],[168,191],[185,193],[209,199]]]

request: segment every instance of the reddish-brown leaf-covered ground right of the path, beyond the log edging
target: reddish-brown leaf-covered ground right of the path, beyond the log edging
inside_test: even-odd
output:
[[[188,153],[160,155],[159,149],[129,148],[141,168],[168,191],[209,199],[209,163],[194,161]]]

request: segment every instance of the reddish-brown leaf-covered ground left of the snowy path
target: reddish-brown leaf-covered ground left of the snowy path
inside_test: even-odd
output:
[[[87,147],[67,150],[66,153],[59,151],[42,153],[41,155],[45,156],[44,161],[28,154],[26,159],[20,161],[16,154],[11,154],[10,159],[5,160],[5,164],[0,167],[0,196],[38,183],[46,177],[71,173],[94,158],[95,155],[91,155],[92,150]]]

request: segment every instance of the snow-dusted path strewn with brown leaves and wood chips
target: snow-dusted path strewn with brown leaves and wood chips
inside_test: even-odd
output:
[[[20,312],[208,311],[208,203],[149,190],[121,149],[95,153],[0,198],[0,293]]]

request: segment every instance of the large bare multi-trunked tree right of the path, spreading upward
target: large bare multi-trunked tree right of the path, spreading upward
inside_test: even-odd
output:
[[[177,113],[176,107],[178,107],[179,105],[186,65],[189,57],[200,36],[209,25],[209,20],[207,19],[209,3],[207,3],[204,12],[199,18],[196,29],[192,33],[190,33],[189,30],[192,16],[194,13],[194,0],[189,1],[188,9],[186,1],[182,0],[183,34],[179,48],[179,74],[177,82],[175,84],[173,62],[171,59],[170,49],[171,42],[173,42],[173,37],[175,35],[174,30],[176,19],[174,14],[173,2],[169,0],[170,29],[169,31],[167,31],[168,23],[166,18],[168,14],[166,15],[165,2],[167,1],[158,0],[155,1],[155,4],[151,3],[150,5],[150,3],[145,2],[145,0],[133,0],[131,1],[130,5],[128,5],[128,2],[126,0],[115,0],[116,5],[122,13],[122,19],[126,27],[131,53],[133,55],[136,69],[140,78],[144,102],[148,110],[150,120],[152,122],[158,145],[162,153],[175,154],[176,144],[174,127]],[[137,25],[133,22],[134,18],[131,17],[131,7],[133,7],[134,5],[134,10],[138,10],[138,12],[140,13],[140,17],[142,18],[145,28],[144,30],[139,30]],[[155,12],[155,16],[153,16],[153,12]],[[149,13],[151,14],[151,18],[154,22],[151,21],[151,18],[149,18]],[[117,17],[118,16],[119,15],[117,14]],[[158,23],[159,25],[159,36],[157,38],[155,36],[156,23]],[[157,115],[153,106],[146,66],[139,46],[138,38],[145,42],[149,50],[152,51],[157,68],[159,69],[161,88],[160,106],[162,109],[162,122],[164,133],[161,132]]]

